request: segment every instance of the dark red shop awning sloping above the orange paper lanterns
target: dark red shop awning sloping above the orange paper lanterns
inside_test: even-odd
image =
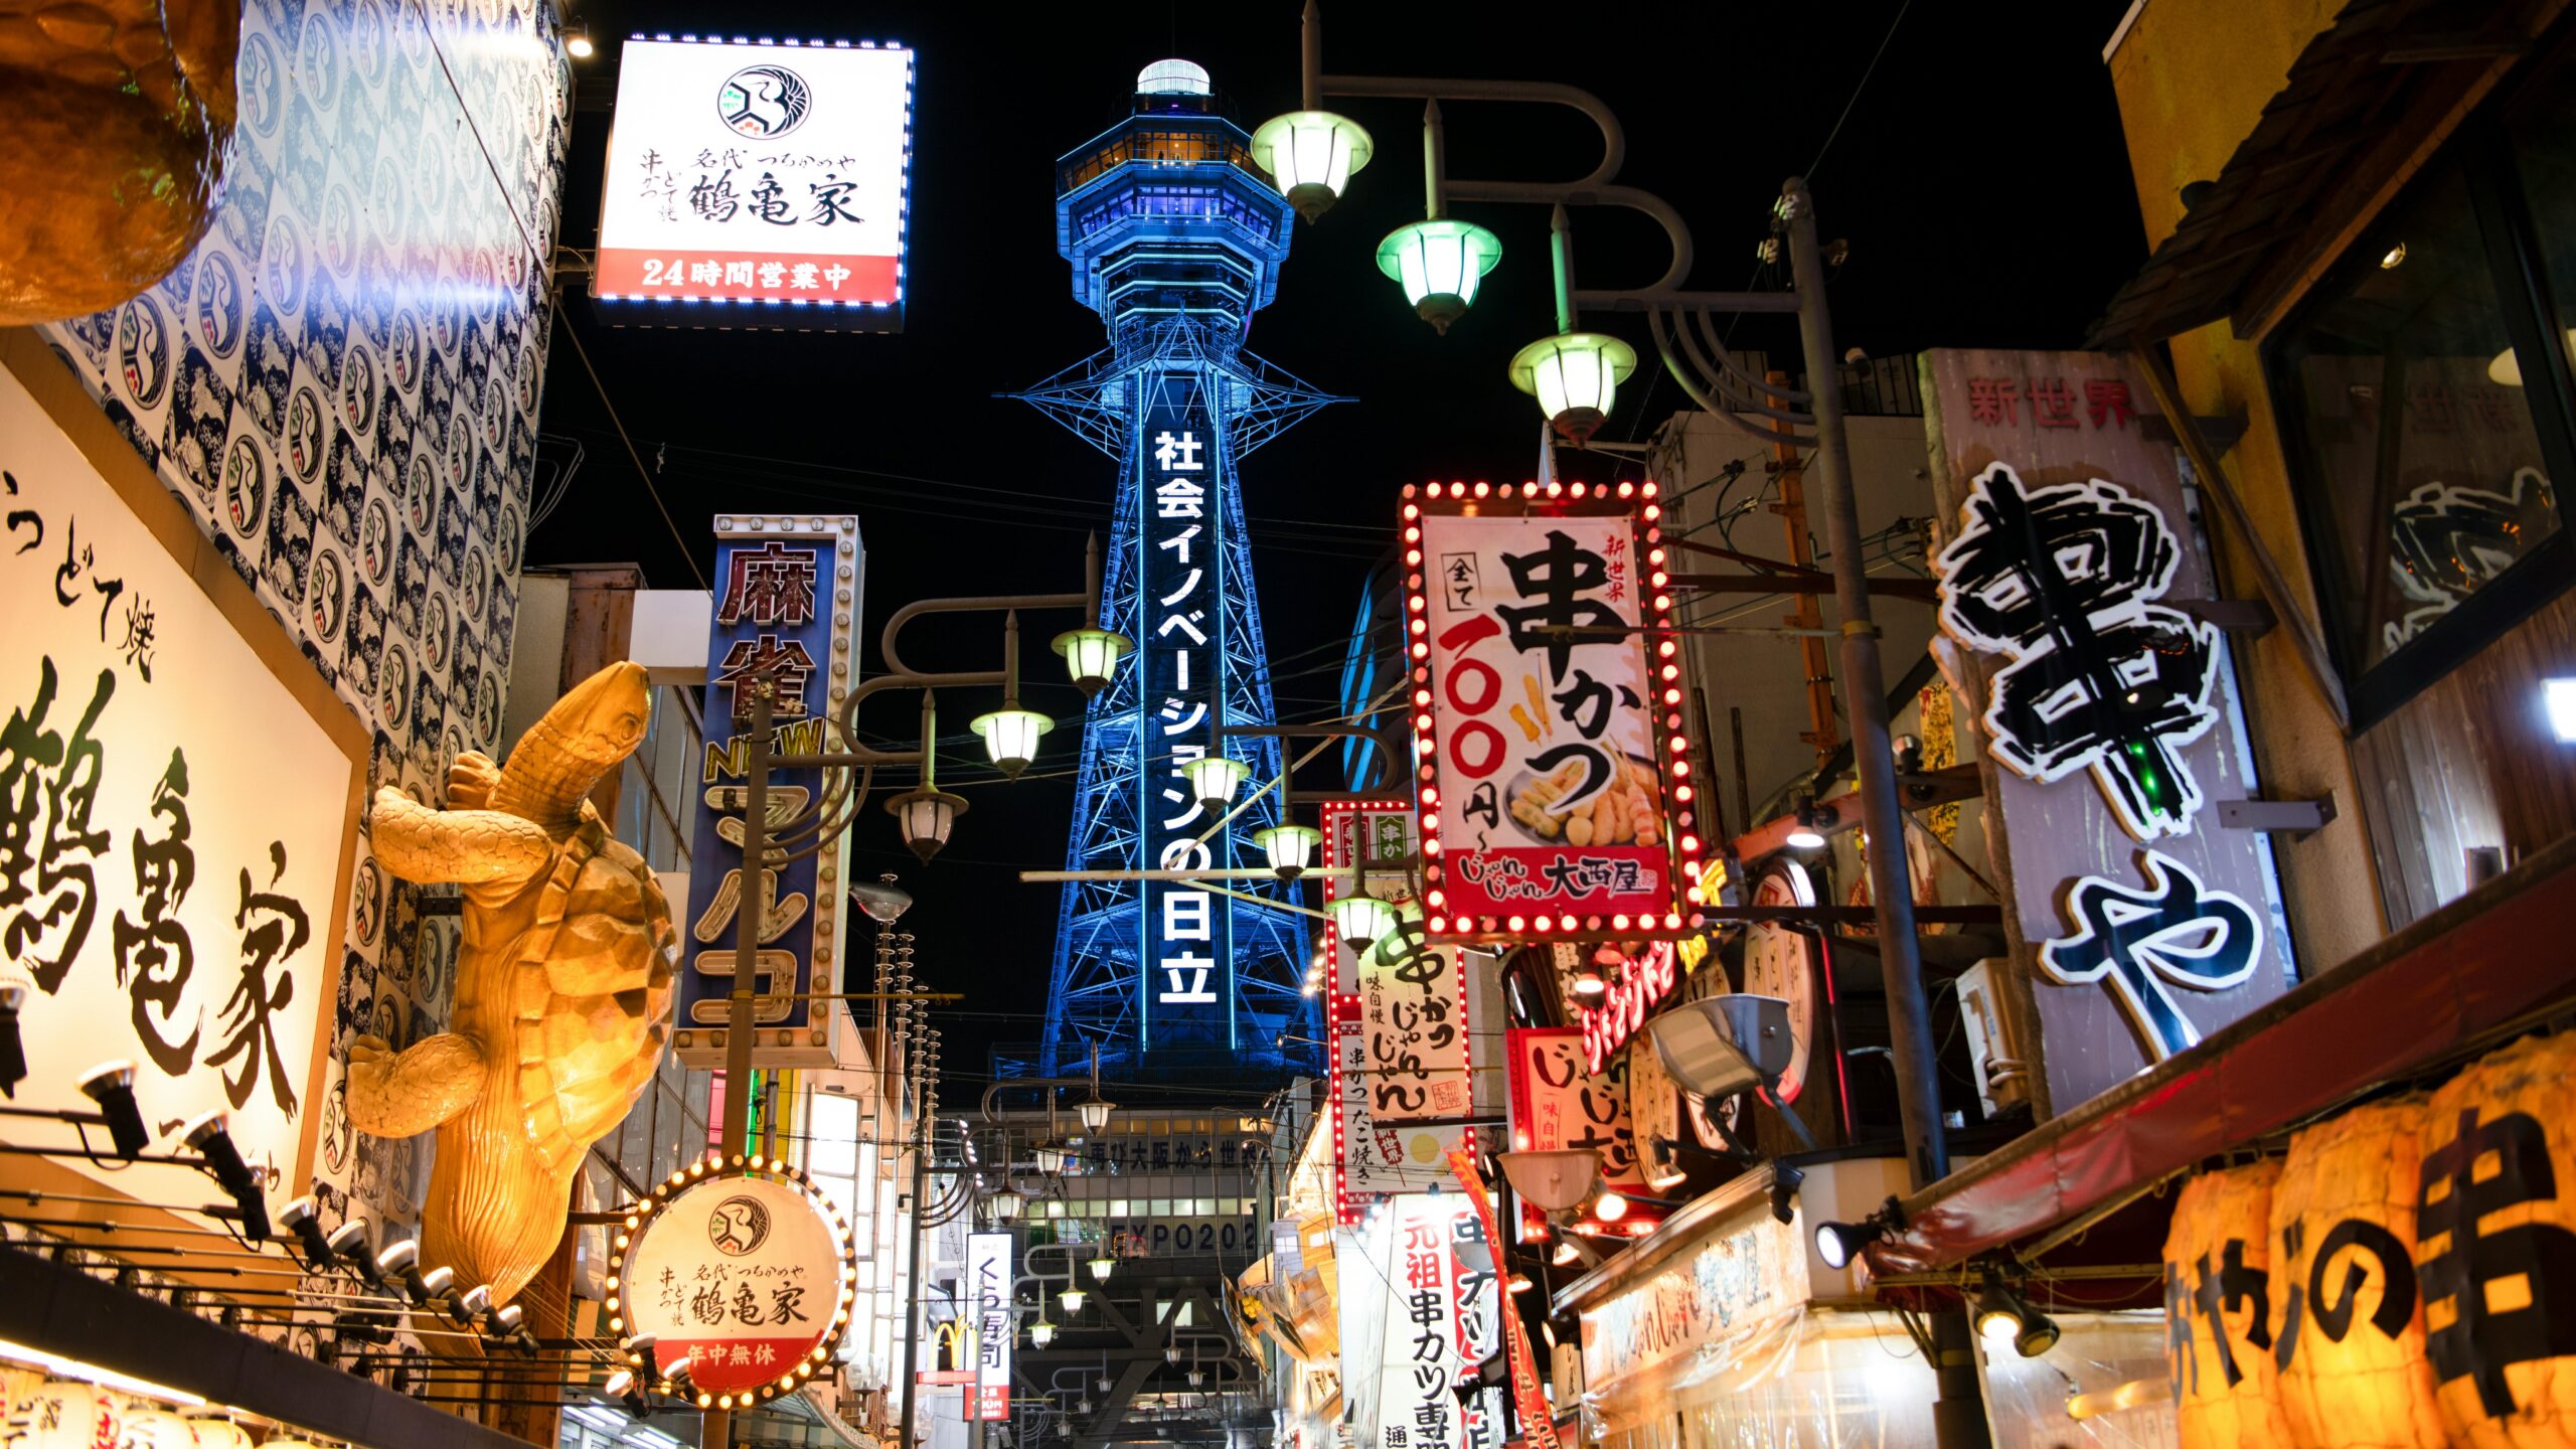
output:
[[[2576,838],[1904,1199],[1870,1263],[1960,1263],[2501,1042],[2576,1003],[2568,941]]]

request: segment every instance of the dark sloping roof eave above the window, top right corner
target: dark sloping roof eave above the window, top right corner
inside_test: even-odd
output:
[[[2344,5],[2087,345],[2154,343],[2221,317],[2239,317],[2244,335],[2342,250],[2566,5]]]

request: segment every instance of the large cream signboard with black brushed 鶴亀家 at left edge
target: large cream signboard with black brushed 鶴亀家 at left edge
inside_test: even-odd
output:
[[[345,1129],[322,1101],[325,1024],[366,732],[240,580],[198,585],[165,547],[196,541],[180,505],[41,348],[21,356],[49,376],[26,371],[39,400],[0,369],[0,982],[26,987],[10,1098],[95,1111],[80,1080],[126,1060],[155,1137],[232,1114],[276,1214],[307,1191],[317,1127]],[[209,1199],[193,1165],[100,1165],[70,1127],[41,1140],[139,1201]]]

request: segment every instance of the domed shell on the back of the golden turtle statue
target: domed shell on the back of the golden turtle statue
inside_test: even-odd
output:
[[[677,964],[680,933],[644,856],[582,820],[510,967],[518,1101],[544,1168],[569,1171],[652,1083]]]

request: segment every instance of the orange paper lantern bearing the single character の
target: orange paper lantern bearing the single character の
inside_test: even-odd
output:
[[[2308,1449],[2447,1444],[2414,1281],[2421,1132],[2421,1096],[2357,1106],[2293,1137],[2272,1189],[2280,1408]]]

